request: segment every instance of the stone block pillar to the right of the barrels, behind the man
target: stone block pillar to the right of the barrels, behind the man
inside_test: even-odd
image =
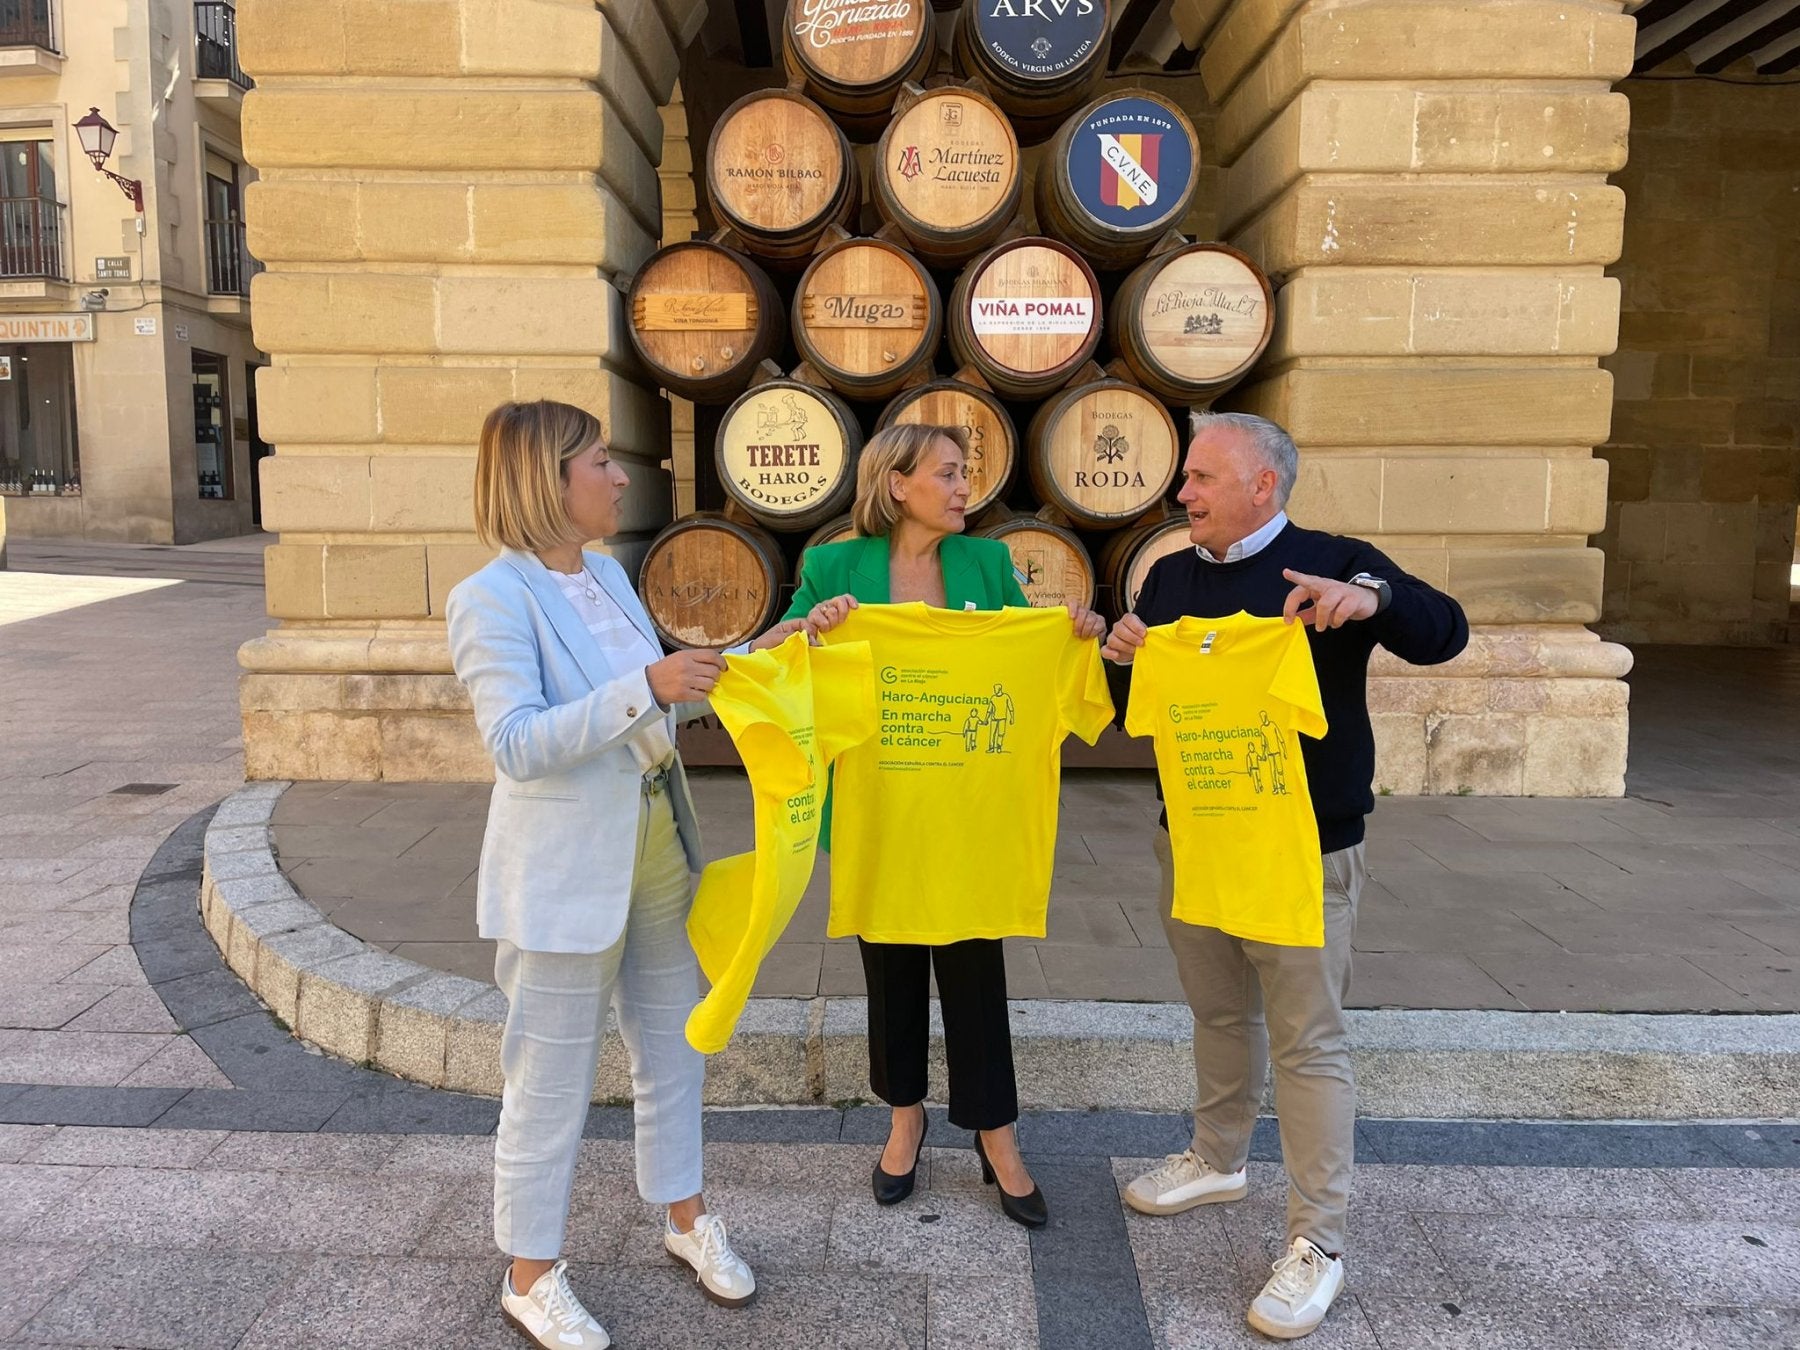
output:
[[[1298,520],[1370,538],[1476,628],[1449,666],[1377,655],[1384,790],[1624,790],[1631,657],[1582,626],[1618,337],[1618,9],[1237,0],[1206,38],[1220,227],[1280,288],[1260,380],[1226,407],[1292,430]]]

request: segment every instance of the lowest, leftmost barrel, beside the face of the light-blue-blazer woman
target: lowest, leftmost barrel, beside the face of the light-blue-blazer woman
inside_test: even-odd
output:
[[[697,511],[650,542],[637,594],[670,646],[724,648],[774,623],[785,576],[781,545],[767,531]]]

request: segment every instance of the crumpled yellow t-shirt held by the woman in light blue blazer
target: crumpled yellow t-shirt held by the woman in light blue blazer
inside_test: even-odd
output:
[[[731,1040],[758,967],[812,880],[826,765],[875,733],[869,644],[819,648],[794,634],[729,657],[711,704],[751,776],[756,850],[709,862],[688,913],[688,938],[713,981],[688,1015],[688,1044],[706,1055]]]

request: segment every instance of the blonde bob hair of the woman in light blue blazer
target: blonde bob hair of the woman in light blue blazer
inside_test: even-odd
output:
[[[563,464],[605,441],[599,418],[569,403],[500,403],[475,450],[475,535],[490,549],[540,553],[569,544]]]

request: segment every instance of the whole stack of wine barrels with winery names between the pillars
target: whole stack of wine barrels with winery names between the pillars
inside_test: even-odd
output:
[[[707,140],[716,232],[628,283],[639,360],[697,403],[702,509],[641,574],[668,644],[776,621],[805,551],[855,533],[860,448],[896,423],[963,428],[970,531],[1033,605],[1116,616],[1186,545],[1188,409],[1251,371],[1273,292],[1177,234],[1193,126],[1100,88],[1118,4],[788,0],[788,86]]]

